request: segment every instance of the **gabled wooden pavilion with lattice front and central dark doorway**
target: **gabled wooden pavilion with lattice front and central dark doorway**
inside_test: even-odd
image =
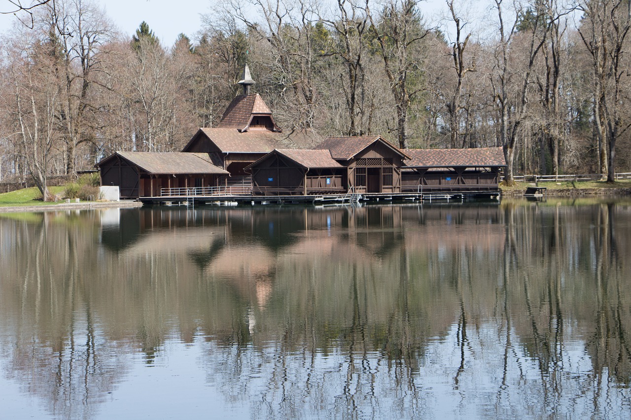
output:
[[[401,166],[409,156],[383,137],[328,137],[315,149],[329,149],[346,167],[348,187],[355,193],[401,192]]]

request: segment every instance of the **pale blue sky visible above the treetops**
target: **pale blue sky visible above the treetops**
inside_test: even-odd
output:
[[[185,33],[196,41],[196,33],[201,29],[201,15],[211,13],[215,0],[95,0],[101,4],[115,26],[124,35],[131,37],[144,20],[162,45],[173,45],[177,35]],[[30,0],[22,0],[28,4]],[[469,2],[464,2],[469,3]],[[445,0],[422,1],[419,7],[423,15],[437,22],[444,13]],[[0,0],[0,12],[11,10],[8,0]],[[13,15],[0,15],[0,32],[11,28]]]

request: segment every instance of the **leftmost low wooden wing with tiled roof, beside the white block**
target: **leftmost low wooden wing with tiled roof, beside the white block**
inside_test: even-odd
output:
[[[160,197],[163,188],[213,187],[228,175],[208,153],[116,152],[97,165],[101,185],[117,185],[122,199]]]

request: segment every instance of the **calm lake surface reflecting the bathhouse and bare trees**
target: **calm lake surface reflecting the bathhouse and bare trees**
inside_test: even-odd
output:
[[[629,201],[0,214],[0,417],[627,419],[630,257]]]

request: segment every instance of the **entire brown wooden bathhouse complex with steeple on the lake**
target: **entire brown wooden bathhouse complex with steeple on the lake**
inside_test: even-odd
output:
[[[261,96],[250,93],[247,66],[239,84],[242,95],[216,127],[200,128],[179,153],[107,156],[95,165],[102,185],[118,185],[121,198],[149,203],[499,194],[501,148],[401,150],[380,136],[283,132]]]

